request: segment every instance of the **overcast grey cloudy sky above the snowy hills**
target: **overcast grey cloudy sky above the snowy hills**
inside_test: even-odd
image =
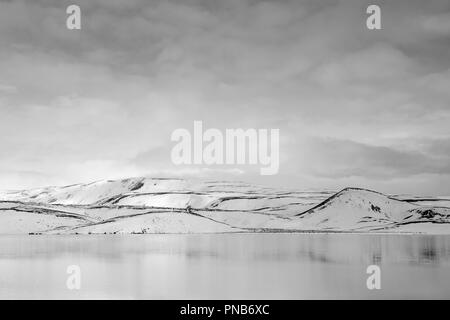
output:
[[[449,194],[449,88],[448,0],[2,0],[0,188],[150,175]],[[279,128],[279,174],[174,166],[170,135],[194,120]]]

